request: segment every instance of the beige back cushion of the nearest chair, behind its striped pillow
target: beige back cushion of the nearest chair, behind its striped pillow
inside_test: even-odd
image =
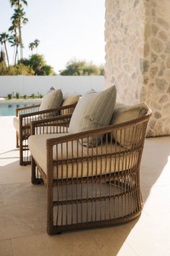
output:
[[[145,102],[135,105],[125,105],[116,103],[114,107],[114,113],[111,117],[111,125],[117,125],[119,123],[124,123],[130,120],[135,120],[138,117],[143,117],[148,113],[149,107]],[[118,131],[113,133],[113,138],[122,146],[129,147],[132,146],[135,141],[140,140],[141,136],[141,126],[140,127],[129,127],[126,131]]]

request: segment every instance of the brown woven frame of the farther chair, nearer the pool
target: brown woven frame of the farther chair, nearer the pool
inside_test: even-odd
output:
[[[40,104],[16,109],[16,117],[19,117],[19,132],[16,131],[16,147],[20,148],[20,165],[29,165],[31,163],[30,152],[27,144],[30,136],[31,118],[35,117],[35,120],[46,119],[49,115],[61,115],[61,110],[73,112],[76,104],[77,102],[64,107],[42,111],[39,111]],[[29,123],[29,125],[27,125],[27,123]]]

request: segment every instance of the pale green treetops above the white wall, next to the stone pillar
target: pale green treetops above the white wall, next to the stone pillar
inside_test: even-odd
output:
[[[72,59],[67,62],[65,70],[61,70],[59,75],[104,75],[103,65],[94,65],[92,62]]]

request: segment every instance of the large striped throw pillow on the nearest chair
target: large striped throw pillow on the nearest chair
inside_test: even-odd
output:
[[[83,95],[75,107],[69,123],[69,133],[93,130],[109,125],[116,102],[116,87],[105,91],[89,91]],[[96,144],[96,140],[84,140],[83,144]]]

